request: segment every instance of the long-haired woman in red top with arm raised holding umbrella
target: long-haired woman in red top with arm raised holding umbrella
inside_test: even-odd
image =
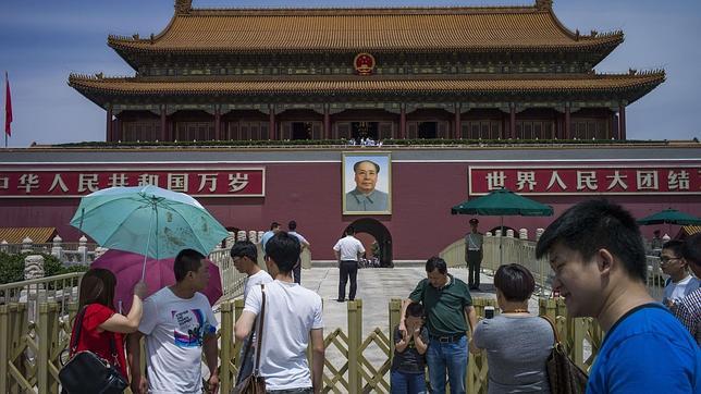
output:
[[[123,382],[128,382],[123,334],[136,332],[138,329],[142,320],[142,299],[145,297],[147,288],[144,282],[139,282],[134,286],[132,308],[127,316],[123,316],[114,310],[115,286],[116,278],[109,270],[95,268],[83,275],[78,298],[79,309],[70,342],[71,361],[63,367],[60,373],[64,391],[70,394],[91,393],[91,389],[88,387],[93,383],[95,383],[96,389],[101,386],[99,390],[103,390],[103,384],[120,387]],[[97,358],[107,361],[104,369],[93,372],[89,357],[87,362],[81,360],[71,366],[74,357],[77,358],[76,355],[82,352],[86,352],[86,356],[93,358],[97,356]],[[91,354],[87,354],[87,352]],[[116,370],[121,377],[114,375],[113,370]],[[81,372],[93,373],[79,377],[78,381],[75,378],[83,374]],[[120,378],[123,379],[123,382],[120,381]],[[97,381],[106,379],[112,382]],[[93,382],[93,380],[96,381]],[[73,389],[73,385],[76,387]],[[102,391],[99,392],[101,393]]]

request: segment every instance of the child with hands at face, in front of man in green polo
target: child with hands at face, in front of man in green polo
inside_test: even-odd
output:
[[[411,303],[404,316],[406,331],[394,329],[394,357],[390,383],[392,394],[425,394],[429,330],[423,327],[423,306]]]

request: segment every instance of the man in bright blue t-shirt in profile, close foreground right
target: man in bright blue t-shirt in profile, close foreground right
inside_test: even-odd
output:
[[[594,317],[606,332],[587,393],[701,392],[701,350],[648,294],[642,237],[628,211],[580,202],[548,226],[536,255],[549,255],[570,317]]]

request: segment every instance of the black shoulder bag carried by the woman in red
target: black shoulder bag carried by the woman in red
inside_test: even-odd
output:
[[[61,367],[59,380],[63,390],[69,394],[118,394],[124,392],[127,386],[126,380],[122,373],[110,365],[108,360],[100,358],[89,350],[76,353],[78,338],[83,329],[83,317],[85,317],[85,306],[78,313],[75,324],[75,335],[71,341],[69,362]],[[119,365],[116,358],[116,345],[114,343],[114,333],[110,332],[110,352],[114,365]],[[62,362],[63,364],[63,362]]]

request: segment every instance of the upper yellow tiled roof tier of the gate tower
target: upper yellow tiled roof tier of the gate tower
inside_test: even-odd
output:
[[[109,37],[116,50],[222,52],[563,50],[620,41],[622,32],[570,32],[538,7],[190,10],[157,36]]]

